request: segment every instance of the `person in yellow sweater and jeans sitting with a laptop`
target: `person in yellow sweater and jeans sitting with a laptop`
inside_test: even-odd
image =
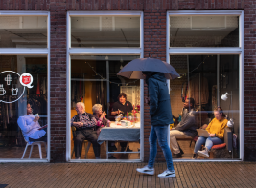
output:
[[[227,126],[227,119],[223,113],[221,107],[218,107],[214,110],[215,118],[209,123],[206,128],[206,131],[209,133],[209,137],[199,136],[195,145],[193,158],[198,156],[209,157],[209,151],[213,145],[223,143],[224,138],[224,129]],[[203,151],[199,151],[201,145],[205,145]]]

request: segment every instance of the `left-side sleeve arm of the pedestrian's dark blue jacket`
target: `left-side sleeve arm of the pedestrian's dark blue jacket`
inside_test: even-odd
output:
[[[158,108],[158,87],[157,85],[149,79],[149,94],[150,94],[150,113],[154,115]]]

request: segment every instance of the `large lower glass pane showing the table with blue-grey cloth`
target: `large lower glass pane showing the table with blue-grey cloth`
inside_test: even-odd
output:
[[[117,76],[120,69],[135,58],[139,56],[71,56],[72,159],[140,158],[140,80]],[[126,94],[127,99],[123,98],[124,95],[120,97],[121,93]],[[78,110],[83,104],[84,115],[84,111],[81,113]],[[93,117],[90,118],[89,114]],[[121,114],[122,118],[116,118]],[[101,115],[103,120],[100,119]],[[81,118],[86,120],[81,127],[76,127],[76,123],[82,121]],[[136,153],[106,156],[107,147],[109,152],[132,150]]]

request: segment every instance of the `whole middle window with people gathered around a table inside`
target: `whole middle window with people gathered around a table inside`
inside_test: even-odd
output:
[[[67,17],[67,160],[141,160],[143,81],[117,73],[142,56],[142,12],[69,11]]]

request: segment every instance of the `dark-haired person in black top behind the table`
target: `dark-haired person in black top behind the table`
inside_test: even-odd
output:
[[[129,101],[127,101],[127,94],[121,93],[118,95],[118,101],[113,104],[113,108],[111,111],[111,115],[119,115],[122,113],[123,115],[127,115],[128,112],[132,112],[133,107]],[[121,151],[125,151],[128,142],[120,142]],[[127,149],[128,152],[132,152],[132,150]]]

